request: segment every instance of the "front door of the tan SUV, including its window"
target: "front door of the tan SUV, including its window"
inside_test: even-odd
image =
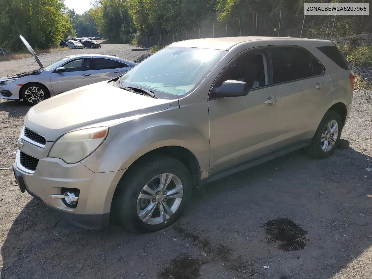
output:
[[[211,173],[238,166],[280,146],[282,92],[272,85],[269,49],[246,52],[228,65],[225,80],[248,83],[243,97],[209,99]]]

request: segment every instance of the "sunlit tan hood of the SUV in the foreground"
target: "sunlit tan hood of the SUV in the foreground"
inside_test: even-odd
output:
[[[153,99],[108,84],[90,84],[44,100],[33,106],[25,126],[47,141],[87,126],[113,125],[125,118],[169,108],[171,100]]]

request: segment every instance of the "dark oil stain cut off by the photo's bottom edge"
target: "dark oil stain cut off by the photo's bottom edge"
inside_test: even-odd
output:
[[[159,276],[161,279],[195,279],[198,278],[203,263],[198,259],[181,254],[171,261],[170,267],[164,269]]]

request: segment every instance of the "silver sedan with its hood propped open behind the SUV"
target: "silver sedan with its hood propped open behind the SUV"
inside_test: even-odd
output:
[[[22,99],[29,105],[77,87],[118,77],[137,65],[114,56],[84,54],[69,55],[44,67],[28,42],[21,39],[40,68],[0,78],[0,97]]]

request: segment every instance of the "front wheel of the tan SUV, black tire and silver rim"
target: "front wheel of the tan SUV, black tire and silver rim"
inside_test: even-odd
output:
[[[158,231],[173,224],[191,197],[192,179],[186,166],[174,158],[151,157],[129,171],[128,176],[120,180],[114,197],[114,211],[119,221],[135,233]],[[173,174],[170,180],[169,174]],[[169,193],[159,192],[160,177],[170,181],[165,187]],[[176,192],[171,192],[173,190]],[[169,195],[177,198],[167,198]]]

